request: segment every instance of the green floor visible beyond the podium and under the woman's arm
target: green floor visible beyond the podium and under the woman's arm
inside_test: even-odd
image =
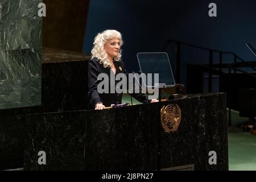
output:
[[[127,95],[123,96],[122,101],[131,102]],[[139,102],[133,98],[133,104],[139,104]],[[231,119],[232,126],[247,121],[247,118],[239,117],[237,111],[231,112]],[[229,170],[256,171],[256,135],[237,127],[229,128],[229,131],[231,131],[228,132]]]

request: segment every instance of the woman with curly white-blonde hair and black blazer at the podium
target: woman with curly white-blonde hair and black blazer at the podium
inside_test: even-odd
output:
[[[123,61],[121,60],[122,44],[122,35],[116,30],[105,30],[98,33],[98,35],[94,38],[92,59],[88,64],[88,97],[90,101],[89,107],[91,109],[105,109],[112,104],[121,104],[122,102],[122,93],[99,93],[97,90],[98,84],[101,82],[101,80],[98,80],[98,75],[100,75],[100,73],[105,73],[108,75],[109,90],[111,86],[114,86],[115,88],[116,84],[118,83],[113,75],[125,73],[127,76],[126,69],[123,65]],[[114,82],[114,85],[110,85],[110,78]],[[134,93],[131,95],[143,103],[156,101],[149,101],[144,93]]]

